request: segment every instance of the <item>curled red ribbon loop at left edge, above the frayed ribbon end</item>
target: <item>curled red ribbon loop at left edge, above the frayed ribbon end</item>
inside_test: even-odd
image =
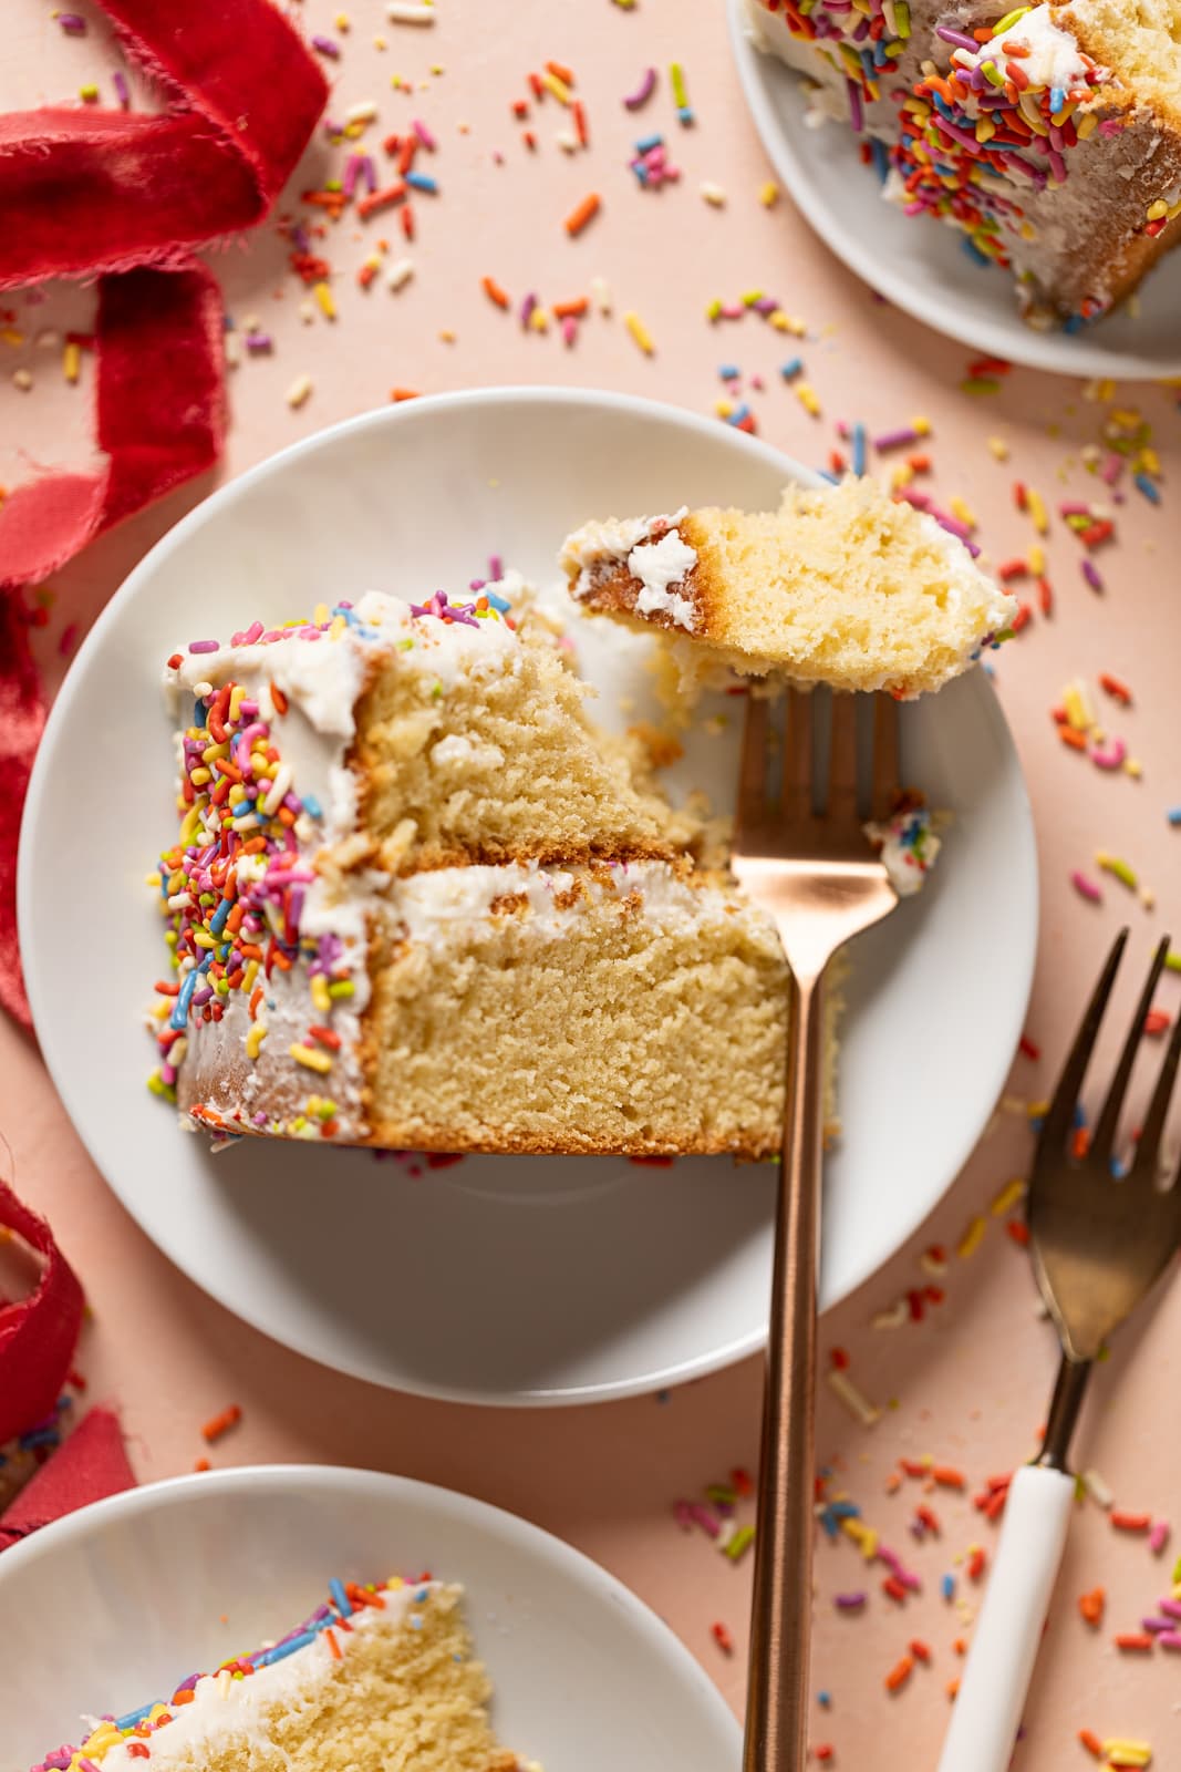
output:
[[[81,1286],[53,1232],[0,1182],[0,1226],[42,1256],[27,1299],[0,1306],[0,1446],[28,1432],[58,1400],[81,1327]]]

